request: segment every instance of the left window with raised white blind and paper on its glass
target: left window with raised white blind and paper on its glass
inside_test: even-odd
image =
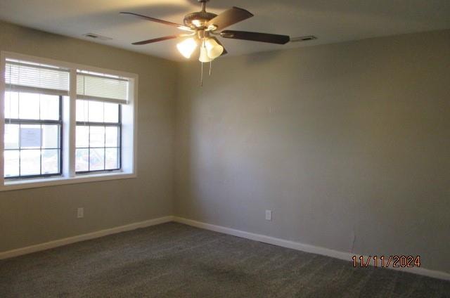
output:
[[[4,177],[61,174],[62,97],[69,72],[8,59],[4,90]]]

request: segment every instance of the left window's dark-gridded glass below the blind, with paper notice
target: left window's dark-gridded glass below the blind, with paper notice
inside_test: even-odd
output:
[[[4,176],[61,174],[62,96],[6,91]]]

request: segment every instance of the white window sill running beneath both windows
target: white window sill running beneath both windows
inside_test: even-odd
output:
[[[60,186],[75,183],[89,183],[95,181],[131,179],[131,178],[136,178],[136,174],[115,172],[115,173],[100,173],[100,174],[82,174],[77,175],[75,177],[50,177],[40,179],[5,181],[5,185],[0,186],[0,191],[18,190],[24,188],[40,188],[46,186]]]

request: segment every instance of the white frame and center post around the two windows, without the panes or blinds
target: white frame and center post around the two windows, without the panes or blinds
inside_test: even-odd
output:
[[[6,181],[4,179],[4,101],[5,101],[5,72],[6,59],[26,60],[34,63],[55,65],[70,70],[69,96],[63,99],[63,175],[38,179],[18,179]],[[118,77],[129,78],[129,94],[127,105],[122,105],[122,168],[118,171],[75,174],[75,129],[76,129],[76,101],[77,101],[77,70],[112,74]],[[138,108],[138,81],[137,74],[108,70],[89,65],[68,63],[49,58],[23,55],[8,51],[0,53],[0,191],[17,190],[23,188],[39,188],[72,183],[87,183],[94,181],[107,181],[116,179],[132,179],[137,176],[137,108]]]

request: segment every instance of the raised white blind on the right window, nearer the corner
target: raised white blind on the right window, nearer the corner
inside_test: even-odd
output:
[[[129,79],[85,72],[77,73],[77,98],[127,103]]]

